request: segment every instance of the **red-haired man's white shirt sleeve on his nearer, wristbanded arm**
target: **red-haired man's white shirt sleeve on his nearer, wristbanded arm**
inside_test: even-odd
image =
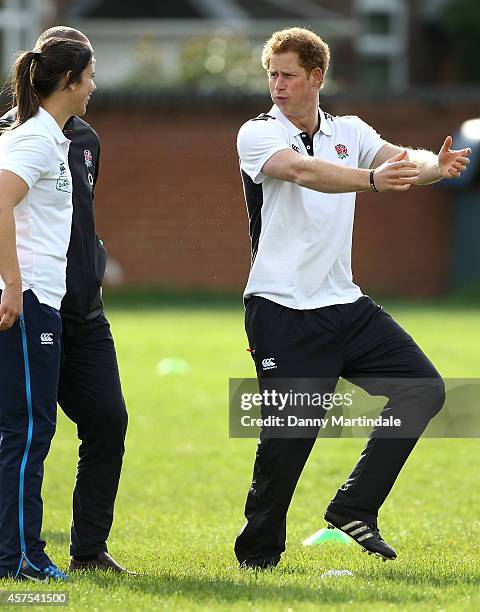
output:
[[[262,168],[272,155],[289,148],[288,134],[275,118],[248,121],[238,133],[240,168],[254,183],[261,183],[265,179]]]

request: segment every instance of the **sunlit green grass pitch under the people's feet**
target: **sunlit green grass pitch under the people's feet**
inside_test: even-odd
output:
[[[444,376],[480,374],[480,310],[392,306]],[[228,378],[253,376],[242,311],[233,307],[109,312],[130,424],[110,551],[142,575],[73,576],[76,610],[480,609],[480,444],[420,441],[380,514],[393,563],[357,545],[303,548],[364,441],[317,443],[295,494],[287,551],[274,572],[237,569],[232,544],[256,441],[228,438]],[[184,375],[160,376],[179,357]],[[47,551],[68,563],[76,434],[59,414],[44,485]],[[353,577],[322,579],[329,569]],[[2,584],[20,589],[23,585]],[[60,586],[49,586],[61,590]]]

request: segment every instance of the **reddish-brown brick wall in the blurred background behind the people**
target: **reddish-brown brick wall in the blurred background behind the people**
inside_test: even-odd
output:
[[[434,150],[475,116],[473,104],[325,107],[362,116],[392,142]],[[126,283],[243,288],[250,245],[235,139],[262,110],[92,103],[87,120],[102,142],[97,230]],[[358,197],[353,268],[365,291],[427,296],[448,288],[450,198],[437,187]]]

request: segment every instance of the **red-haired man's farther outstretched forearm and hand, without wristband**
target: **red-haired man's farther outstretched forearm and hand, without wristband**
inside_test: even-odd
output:
[[[465,172],[470,163],[468,156],[471,150],[452,150],[450,148],[452,143],[452,137],[447,136],[438,155],[424,149],[409,149],[387,143],[375,156],[371,168],[379,168],[393,155],[398,155],[401,151],[407,151],[407,159],[415,162],[418,166],[420,173],[417,182],[418,185],[430,185],[444,178],[458,178],[462,172]],[[375,175],[376,174],[377,171],[375,171]]]

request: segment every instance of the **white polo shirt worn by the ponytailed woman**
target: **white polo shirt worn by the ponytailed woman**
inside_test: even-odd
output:
[[[66,292],[67,249],[72,226],[70,141],[43,108],[0,136],[0,170],[27,183],[29,191],[14,208],[17,255],[23,291],[60,310]],[[5,284],[0,277],[0,289]]]

